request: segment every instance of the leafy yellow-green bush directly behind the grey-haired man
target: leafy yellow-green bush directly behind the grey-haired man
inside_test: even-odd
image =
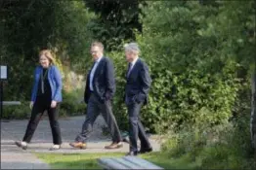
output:
[[[149,49],[142,48],[145,51],[143,59],[147,58],[145,60],[152,78],[149,105],[141,113],[147,128],[152,132],[165,131],[170,124],[174,125],[172,127],[200,121],[216,124],[230,119],[239,87],[235,79],[235,63],[227,64],[219,70],[224,75],[200,72],[198,69],[175,73],[163,65],[159,67],[160,61],[150,58]],[[111,52],[109,56],[116,67],[114,114],[121,128],[125,129],[128,126],[123,100],[127,63],[123,52]]]

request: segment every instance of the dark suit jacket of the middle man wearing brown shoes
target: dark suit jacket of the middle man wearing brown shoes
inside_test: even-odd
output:
[[[84,91],[85,103],[88,103],[89,97],[91,95],[91,90],[90,90],[91,70],[89,71],[89,74],[87,75],[87,80],[86,80],[86,86]],[[105,56],[101,59],[94,73],[93,88],[94,88],[94,93],[102,102],[106,100],[111,100],[114,95],[114,92],[115,92],[114,68],[113,68],[112,61]]]

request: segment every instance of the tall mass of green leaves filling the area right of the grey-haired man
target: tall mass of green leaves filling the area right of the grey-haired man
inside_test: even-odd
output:
[[[143,9],[147,16],[137,41],[152,86],[142,118],[151,130],[157,124],[161,130],[170,124],[219,124],[249,106],[245,96],[255,44],[246,32],[253,28],[254,2],[216,3],[149,1]]]

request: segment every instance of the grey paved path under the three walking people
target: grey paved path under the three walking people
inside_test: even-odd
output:
[[[14,142],[21,140],[27,125],[27,120],[11,120],[1,122],[1,169],[49,169],[50,167],[39,160],[32,153],[127,153],[129,145],[117,150],[105,150],[104,147],[110,144],[110,137],[102,134],[102,126],[106,125],[104,119],[99,117],[94,125],[94,131],[88,140],[88,149],[78,150],[69,147],[77,133],[80,132],[85,117],[72,117],[60,119],[63,145],[59,151],[51,152],[52,133],[48,119],[43,119],[38,124],[31,143],[26,151],[14,145]],[[151,136],[149,138],[153,150],[159,151],[160,144]]]

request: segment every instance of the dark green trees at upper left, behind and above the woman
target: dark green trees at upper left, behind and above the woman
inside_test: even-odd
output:
[[[54,51],[59,64],[71,70],[87,69],[91,58],[87,24],[95,16],[83,2],[5,1],[1,14],[1,63],[10,67],[6,100],[29,100],[33,70],[42,49]]]

